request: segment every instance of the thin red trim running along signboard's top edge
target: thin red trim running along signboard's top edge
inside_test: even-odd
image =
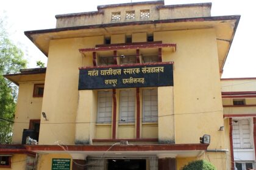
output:
[[[125,64],[125,65],[109,65],[109,66],[95,66],[95,67],[79,67],[81,69],[96,69],[96,68],[115,68],[115,67],[135,67],[135,66],[155,66],[162,64],[174,64],[174,62],[162,62],[162,63],[136,63],[136,64]]]

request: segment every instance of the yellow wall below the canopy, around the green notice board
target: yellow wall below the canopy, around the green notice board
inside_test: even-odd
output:
[[[37,169],[45,170],[52,168],[52,158],[71,158],[70,169],[72,169],[72,157],[69,154],[40,154],[38,158]]]

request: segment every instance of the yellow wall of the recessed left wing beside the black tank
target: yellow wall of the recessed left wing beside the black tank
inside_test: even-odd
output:
[[[34,84],[44,81],[20,82],[13,126],[13,144],[21,144],[23,129],[29,129],[30,119],[40,119],[42,97],[33,97]]]

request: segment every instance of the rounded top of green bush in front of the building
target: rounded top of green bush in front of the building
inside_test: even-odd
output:
[[[216,168],[206,160],[196,160],[183,166],[182,170],[216,170]]]

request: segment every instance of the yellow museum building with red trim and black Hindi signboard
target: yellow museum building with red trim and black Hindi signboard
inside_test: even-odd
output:
[[[220,77],[240,16],[211,16],[211,5],[99,5],[25,32],[48,66],[5,75],[20,89],[4,168],[233,169]]]

